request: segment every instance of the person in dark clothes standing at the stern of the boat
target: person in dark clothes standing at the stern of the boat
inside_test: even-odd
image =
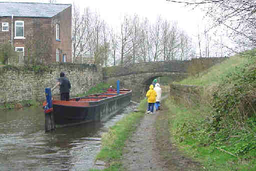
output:
[[[69,80],[65,77],[64,72],[60,72],[59,74],[59,93],[60,93],[60,100],[69,100],[69,89],[71,88],[71,84]]]

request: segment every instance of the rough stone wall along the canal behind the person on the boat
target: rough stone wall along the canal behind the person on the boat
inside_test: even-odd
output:
[[[102,82],[102,68],[92,64],[52,64],[49,71],[27,71],[22,67],[10,67],[0,72],[0,103],[22,100],[44,100],[46,87],[52,88],[63,71],[71,83],[70,96],[87,92]],[[56,88],[52,96],[59,96]]]

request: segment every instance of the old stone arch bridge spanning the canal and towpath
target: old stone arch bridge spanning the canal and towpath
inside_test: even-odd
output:
[[[116,80],[120,80],[120,88],[131,89],[132,99],[138,100],[144,97],[149,85],[157,77],[168,76],[172,80],[182,80],[188,76],[192,67],[200,66],[201,70],[204,70],[225,59],[197,58],[107,67],[102,70],[103,81],[114,85]]]

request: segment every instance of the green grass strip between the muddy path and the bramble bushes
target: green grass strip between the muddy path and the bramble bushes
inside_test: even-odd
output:
[[[214,136],[212,134],[216,133],[203,128],[204,126],[208,128],[207,123],[204,122],[206,116],[203,115],[207,115],[206,111],[211,111],[209,108],[204,108],[204,112],[201,112],[195,108],[176,104],[171,97],[165,101],[165,105],[169,112],[168,124],[169,132],[173,137],[172,142],[181,151],[200,161],[206,171],[256,171],[255,149],[245,155],[237,155],[232,151],[223,150],[227,143],[225,136],[211,140]],[[229,139],[239,145],[249,143],[247,139],[240,140],[235,136],[231,136]],[[210,141],[214,141],[214,143],[209,143]],[[220,142],[218,143],[218,141]]]

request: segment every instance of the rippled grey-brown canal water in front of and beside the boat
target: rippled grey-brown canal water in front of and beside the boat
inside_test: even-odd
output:
[[[130,103],[104,123],[44,132],[41,108],[0,111],[0,171],[88,171],[103,132],[134,111]]]

